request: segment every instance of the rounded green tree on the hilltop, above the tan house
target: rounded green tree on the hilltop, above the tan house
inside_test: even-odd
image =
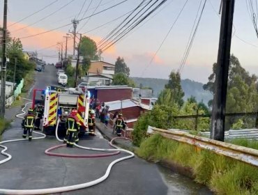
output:
[[[96,42],[87,36],[82,37],[79,54],[90,60],[99,60]]]

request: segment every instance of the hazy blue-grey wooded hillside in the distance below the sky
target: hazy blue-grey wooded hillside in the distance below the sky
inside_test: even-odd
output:
[[[153,89],[153,96],[158,97],[158,94],[160,94],[160,91],[164,88],[165,84],[167,84],[168,79],[154,79],[154,78],[139,78],[139,77],[130,77],[133,81],[135,81],[135,84],[139,86],[139,84],[142,84],[143,87],[151,87]],[[184,100],[187,98],[190,98],[190,96],[195,96],[196,100],[198,102],[203,102],[205,104],[208,103],[208,100],[211,100],[213,96],[210,92],[204,91],[202,88],[204,84],[199,83],[197,81],[192,81],[190,79],[182,79],[181,80],[181,86],[183,88],[183,91],[185,93]]]

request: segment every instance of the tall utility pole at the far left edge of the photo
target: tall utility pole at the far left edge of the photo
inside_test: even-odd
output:
[[[3,59],[1,64],[1,105],[0,118],[6,113],[6,31],[7,31],[7,0],[3,4]]]

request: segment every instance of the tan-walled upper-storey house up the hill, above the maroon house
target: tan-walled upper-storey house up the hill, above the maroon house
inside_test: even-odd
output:
[[[104,61],[91,61],[88,74],[82,79],[89,84],[108,86],[112,83],[114,75],[114,64]]]

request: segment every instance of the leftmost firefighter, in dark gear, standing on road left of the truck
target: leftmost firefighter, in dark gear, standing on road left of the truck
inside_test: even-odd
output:
[[[25,139],[27,132],[29,132],[29,141],[32,139],[32,131],[33,131],[33,124],[34,124],[34,115],[33,115],[33,109],[28,110],[28,114],[24,116],[22,120],[22,127],[24,128],[24,132],[22,137]]]

